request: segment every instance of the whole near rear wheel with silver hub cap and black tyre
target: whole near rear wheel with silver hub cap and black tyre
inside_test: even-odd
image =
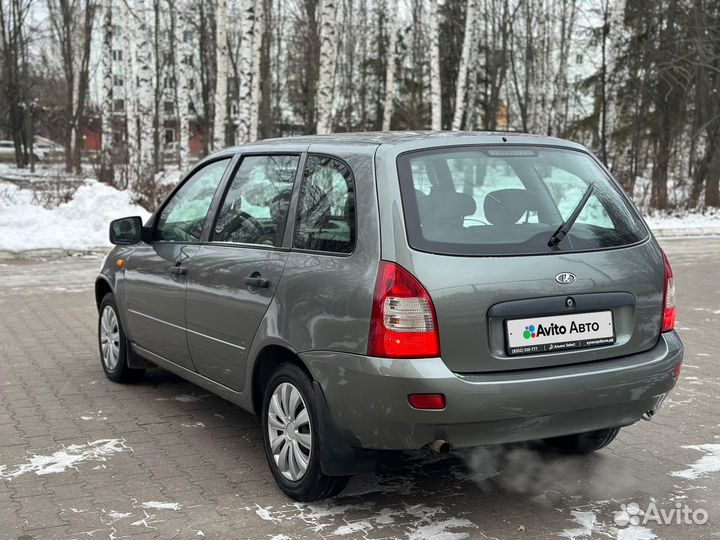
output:
[[[263,400],[265,456],[280,489],[296,501],[338,494],[346,476],[327,476],[320,467],[321,434],[312,381],[293,364],[278,367]]]

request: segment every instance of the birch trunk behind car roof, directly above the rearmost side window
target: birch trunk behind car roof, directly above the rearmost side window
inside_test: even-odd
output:
[[[320,77],[318,79],[317,133],[332,130],[333,76],[335,74],[335,0],[320,4]]]

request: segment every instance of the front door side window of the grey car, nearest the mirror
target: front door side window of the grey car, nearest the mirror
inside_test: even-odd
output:
[[[160,212],[154,239],[200,241],[210,204],[230,158],[213,161],[191,176]]]

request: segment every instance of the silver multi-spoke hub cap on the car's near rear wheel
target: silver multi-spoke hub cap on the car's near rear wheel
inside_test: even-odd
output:
[[[312,428],[305,401],[290,383],[279,384],[270,398],[268,440],[278,470],[288,480],[300,480],[310,463]]]

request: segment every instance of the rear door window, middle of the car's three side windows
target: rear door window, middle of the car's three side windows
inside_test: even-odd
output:
[[[213,242],[280,247],[299,156],[243,158],[215,221]]]

